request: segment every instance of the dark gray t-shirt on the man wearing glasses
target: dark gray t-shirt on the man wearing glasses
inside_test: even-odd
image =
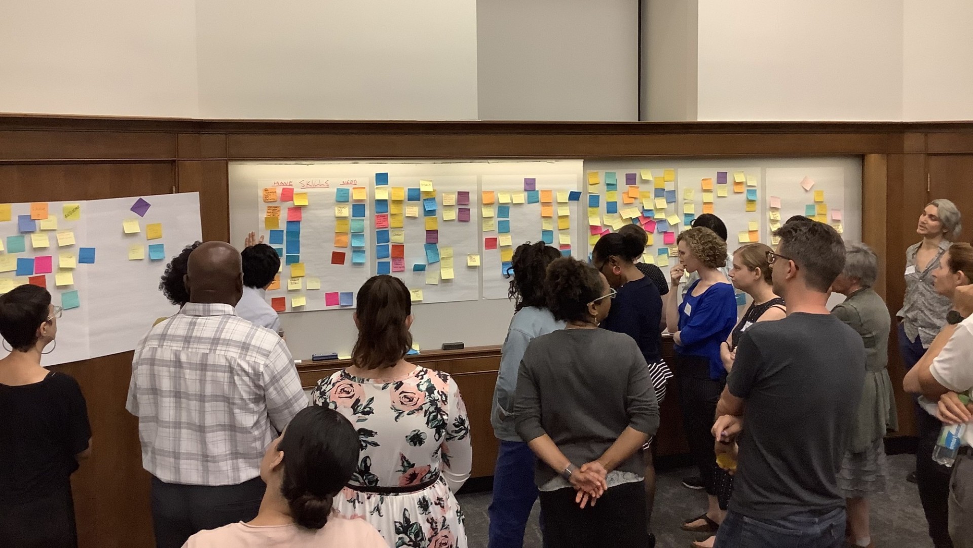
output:
[[[779,519],[844,506],[835,476],[864,381],[861,337],[830,314],[747,329],[727,378],[746,404],[729,509]]]

